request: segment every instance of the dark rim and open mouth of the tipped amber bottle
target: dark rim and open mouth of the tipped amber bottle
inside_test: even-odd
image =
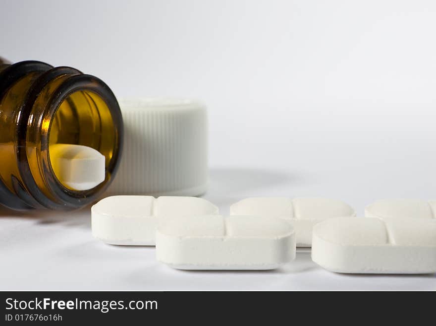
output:
[[[100,79],[90,75],[73,75],[56,89],[47,105],[50,125],[45,135],[46,150],[42,148],[43,165],[48,188],[68,205],[81,207],[95,201],[104,192],[118,168],[122,150],[122,117],[115,96]],[[55,144],[87,146],[105,157],[104,181],[91,189],[74,189],[60,181],[50,158]],[[44,169],[45,171],[46,169]]]

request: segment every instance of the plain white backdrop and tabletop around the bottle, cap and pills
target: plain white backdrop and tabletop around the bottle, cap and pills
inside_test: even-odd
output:
[[[201,99],[210,191],[435,198],[435,1],[0,0],[0,56],[70,65],[118,97]],[[299,253],[265,272],[177,271],[94,240],[90,213],[0,209],[0,289],[436,290],[435,275],[341,275]]]

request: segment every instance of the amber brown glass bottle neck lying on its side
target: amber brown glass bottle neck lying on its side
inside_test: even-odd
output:
[[[102,80],[71,67],[0,62],[0,203],[70,210],[94,202],[118,168],[122,126],[116,98]],[[85,191],[59,182],[50,161],[55,143],[105,155],[105,181]]]

